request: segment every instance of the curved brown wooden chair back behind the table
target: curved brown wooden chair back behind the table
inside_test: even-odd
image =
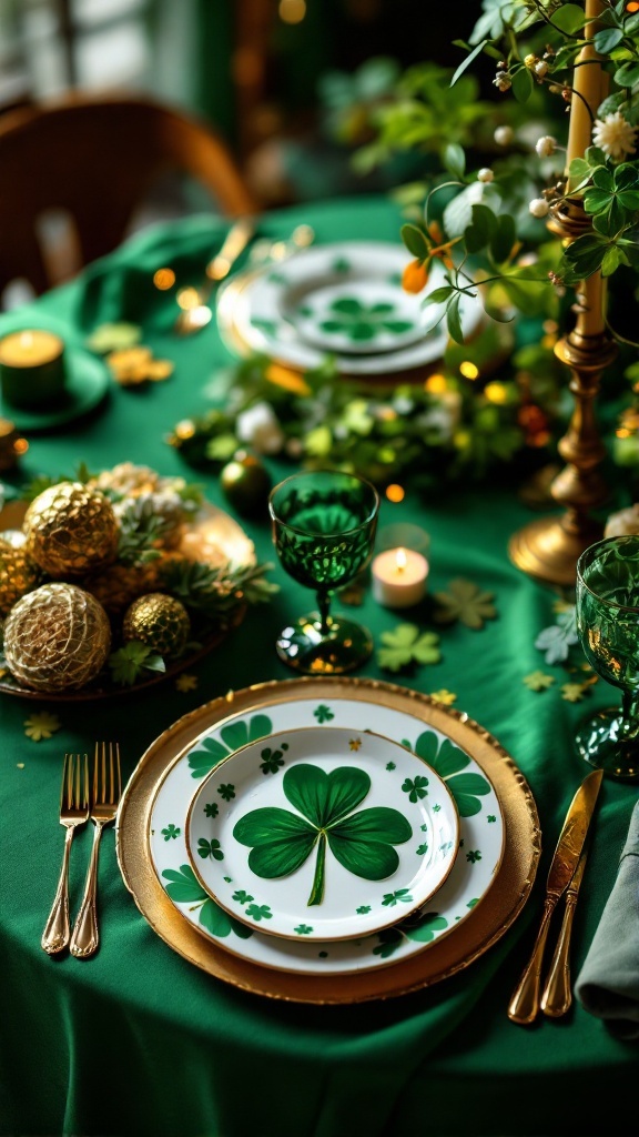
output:
[[[43,215],[70,215],[82,267],[121,243],[169,171],[204,185],[224,216],[257,211],[226,143],[149,99],[73,96],[0,116],[0,293],[16,279],[36,293],[59,282],[39,236]]]

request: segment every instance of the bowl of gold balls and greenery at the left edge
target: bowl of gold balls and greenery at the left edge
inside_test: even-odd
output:
[[[193,664],[275,590],[198,487],[122,463],[0,513],[0,690],[89,699]]]

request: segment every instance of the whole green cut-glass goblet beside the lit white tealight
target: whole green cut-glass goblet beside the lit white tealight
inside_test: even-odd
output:
[[[341,675],[373,649],[370,632],[331,615],[335,588],[368,564],[380,498],[370,482],[340,471],[292,474],[271,491],[273,542],[293,580],[314,588],[318,613],[300,616],[277,638],[277,654],[296,671]]]

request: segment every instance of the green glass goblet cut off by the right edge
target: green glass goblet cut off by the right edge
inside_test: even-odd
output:
[[[622,706],[599,711],[576,736],[581,757],[611,778],[639,780],[639,534],[608,537],[576,564],[576,628],[601,679]]]

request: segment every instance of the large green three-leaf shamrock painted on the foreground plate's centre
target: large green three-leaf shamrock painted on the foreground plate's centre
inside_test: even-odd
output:
[[[310,906],[324,896],[326,844],[356,877],[384,880],[396,872],[399,856],[392,846],[409,840],[413,829],[398,810],[387,806],[352,813],[371,789],[364,770],[340,766],[326,773],[301,763],[287,770],[282,788],[298,813],[266,806],[240,818],[233,829],[235,839],[250,847],[249,869],[257,877],[288,877],[317,848]]]

